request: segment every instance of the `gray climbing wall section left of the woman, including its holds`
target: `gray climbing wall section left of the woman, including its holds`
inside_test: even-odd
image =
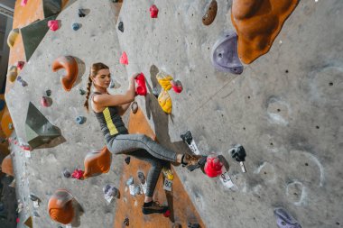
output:
[[[61,216],[62,222],[69,219],[58,214],[59,208],[53,205],[54,196],[70,196],[60,194],[63,193],[60,188],[73,196],[73,208],[78,213],[72,226],[111,227],[113,224],[116,200],[109,204],[103,187],[118,186],[125,157],[112,159],[111,169],[97,177],[71,178],[70,173],[74,169],[85,170],[88,153],[105,145],[95,115],[83,107],[86,95],[79,90],[87,89],[91,63],[102,61],[110,67],[116,75],[116,87],[119,87],[116,91],[123,92],[127,87],[125,68],[118,61],[121,51],[116,35],[116,8],[105,0],[97,4],[70,1],[57,17],[58,30],[46,33],[19,73],[22,81],[15,80],[5,94],[16,132],[10,141],[16,192],[21,203],[18,227],[24,227],[23,223],[30,217],[33,227],[65,227],[51,219],[51,216]],[[79,9],[83,9],[82,17]],[[73,29],[74,23],[79,24],[79,30]],[[72,56],[78,64],[78,75],[69,92],[61,84],[61,78],[71,75],[71,69],[52,70],[52,63],[61,56]],[[32,151],[27,150],[27,142],[31,143]]]

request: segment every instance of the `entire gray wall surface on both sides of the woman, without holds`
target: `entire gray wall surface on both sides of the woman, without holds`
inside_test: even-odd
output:
[[[161,114],[151,94],[136,100],[163,145],[185,150],[180,133],[190,130],[202,153],[223,154],[229,161],[234,189],[199,170],[176,168],[208,227],[276,227],[273,209],[279,206],[302,227],[343,224],[343,2],[300,1],[271,50],[246,65],[240,76],[211,65],[213,44],[234,27],[231,1],[224,0],[218,0],[214,23],[204,26],[201,18],[209,2],[126,0],[118,16],[125,32],[116,29],[116,10],[106,0],[78,1],[59,15],[60,30],[47,33],[23,70],[29,86],[16,84],[6,95],[18,137],[24,139],[32,101],[66,139],[57,147],[33,150],[27,161],[30,189],[44,198],[41,217],[33,220],[38,227],[55,224],[46,206],[59,187],[70,189],[84,207],[80,227],[111,227],[114,208],[106,206],[101,188],[107,181],[117,183],[120,167],[114,164],[108,174],[84,181],[60,174],[64,168],[82,168],[87,151],[103,145],[97,120],[85,113],[85,97],[78,92],[86,87],[88,67],[95,61],[111,67],[122,85],[119,93],[134,72],[144,72],[150,89],[160,69],[181,80],[182,93],[170,92],[172,115]],[[153,4],[160,9],[156,19],[150,18]],[[87,17],[77,16],[79,7],[90,9]],[[82,23],[78,32],[71,30],[73,22]],[[129,60],[125,68],[118,65],[124,50]],[[86,66],[70,93],[60,86],[61,72],[51,72],[53,59],[67,54]],[[47,88],[54,102],[50,108],[40,105]],[[84,125],[74,121],[79,114],[88,118]],[[227,153],[234,143],[246,148],[246,174]]]

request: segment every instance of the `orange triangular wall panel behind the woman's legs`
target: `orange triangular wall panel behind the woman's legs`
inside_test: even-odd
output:
[[[153,130],[151,129],[143,112],[140,109],[138,109],[136,114],[130,114],[128,130],[130,133],[144,133],[152,139],[156,138]],[[180,223],[182,227],[187,227],[188,223],[199,223],[201,227],[205,227],[175,171],[174,180],[172,182],[172,192],[170,193],[163,190],[163,179],[161,175],[154,194],[154,199],[159,201],[160,204],[167,205],[167,202],[169,202],[168,205],[171,209],[171,216],[167,218],[162,214],[144,215],[142,213],[144,195],[131,196],[129,190],[125,186],[125,182],[128,178],[130,178],[130,176],[132,176],[134,177],[135,184],[140,183],[137,177],[137,171],[143,171],[146,178],[149,169],[149,163],[136,160],[133,157],[131,158],[129,165],[124,165],[123,176],[120,180],[119,186],[121,196],[116,202],[114,227],[124,227],[123,222],[125,217],[128,217],[130,223],[129,227],[131,228],[171,228],[173,224],[172,221],[175,223]]]

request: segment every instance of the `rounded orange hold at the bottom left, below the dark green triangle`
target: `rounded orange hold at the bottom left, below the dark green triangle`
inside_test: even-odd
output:
[[[67,190],[58,189],[48,203],[51,219],[63,224],[71,223],[75,215],[72,198]]]

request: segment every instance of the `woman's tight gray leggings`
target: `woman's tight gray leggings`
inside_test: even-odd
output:
[[[146,178],[146,194],[152,197],[161,169],[166,161],[176,162],[176,153],[168,150],[144,134],[119,134],[107,141],[107,148],[113,154],[127,154],[152,164]]]

